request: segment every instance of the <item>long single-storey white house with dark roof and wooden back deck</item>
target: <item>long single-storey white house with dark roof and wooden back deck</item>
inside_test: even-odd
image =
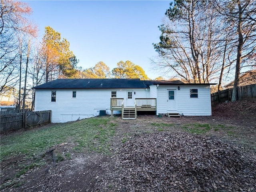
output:
[[[52,110],[52,122],[105,114],[136,118],[137,111],[210,116],[210,85],[166,80],[57,79],[34,87],[35,111]]]

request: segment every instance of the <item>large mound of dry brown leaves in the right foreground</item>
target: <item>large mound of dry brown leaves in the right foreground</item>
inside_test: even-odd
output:
[[[252,192],[256,157],[205,136],[144,134],[118,150],[114,172],[99,185],[101,191]]]

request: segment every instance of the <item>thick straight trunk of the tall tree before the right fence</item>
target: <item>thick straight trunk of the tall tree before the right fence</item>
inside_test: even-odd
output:
[[[238,47],[237,47],[237,56],[236,56],[236,72],[235,72],[235,80],[234,80],[234,88],[232,92],[232,102],[238,100],[238,84],[239,84],[239,76],[242,62],[242,47],[243,47],[243,35],[242,35],[242,7],[240,2],[238,1],[239,8],[239,18],[238,18]]]

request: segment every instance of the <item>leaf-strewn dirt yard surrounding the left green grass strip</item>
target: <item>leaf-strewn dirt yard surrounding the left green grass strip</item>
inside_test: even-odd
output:
[[[49,148],[45,154],[33,159],[20,155],[3,160],[1,191],[256,191],[256,101],[218,104],[212,108],[212,116],[205,117],[168,118],[141,114],[136,120],[122,120],[119,117],[112,121],[117,126],[108,153],[76,152],[76,144],[70,140]],[[171,154],[174,148],[166,143],[168,140],[175,141],[173,145],[180,149],[176,154]],[[158,141],[162,142],[160,146]],[[191,141],[192,144],[188,145]],[[202,144],[198,145],[200,142]],[[214,152],[206,152],[202,146],[207,146],[211,152],[218,150],[223,163],[218,164],[220,157]],[[198,150],[204,156],[196,156],[193,161],[182,156],[184,152],[192,157]],[[53,152],[69,155],[58,159],[58,156],[53,158]],[[176,159],[178,164],[170,165],[170,158],[173,161]],[[212,162],[204,162],[208,161],[206,158]],[[30,166],[24,175],[12,179],[20,164],[33,165],[42,159],[42,166]],[[241,167],[240,170],[236,167],[235,170],[226,168],[227,173],[223,172],[219,177],[218,172],[234,163],[233,159]],[[244,164],[241,165],[241,162]],[[131,164],[133,167],[130,167]],[[202,166],[200,164],[209,164],[210,167],[200,175],[192,175],[198,166]],[[168,175],[166,169],[175,172],[168,172]],[[152,170],[150,174],[149,170]],[[212,172],[208,174],[207,171]],[[234,175],[238,172],[241,176]],[[230,175],[228,180],[227,175]],[[233,176],[235,179],[231,178]],[[170,180],[169,184],[164,181],[167,179]],[[236,184],[232,183],[233,180]],[[149,188],[153,183],[155,187]]]

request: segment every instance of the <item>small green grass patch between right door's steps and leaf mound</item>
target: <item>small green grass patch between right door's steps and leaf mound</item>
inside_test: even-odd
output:
[[[204,134],[208,131],[210,131],[212,128],[210,124],[200,124],[200,123],[194,123],[194,124],[185,124],[182,126],[182,128],[189,133],[192,134]]]

